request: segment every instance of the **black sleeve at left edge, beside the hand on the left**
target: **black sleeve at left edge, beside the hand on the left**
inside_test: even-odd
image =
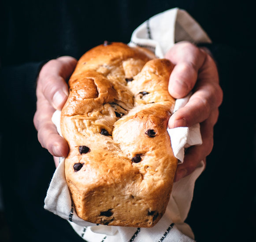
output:
[[[36,81],[45,61],[29,62],[0,69],[4,114],[10,121],[31,124],[36,110]]]

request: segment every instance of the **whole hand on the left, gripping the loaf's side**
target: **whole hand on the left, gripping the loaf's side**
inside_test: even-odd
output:
[[[37,81],[37,110],[34,125],[41,146],[54,157],[66,157],[69,151],[67,142],[59,136],[52,123],[52,114],[61,110],[67,101],[67,80],[73,73],[77,60],[71,56],[62,56],[48,61],[42,68]],[[58,160],[55,159],[57,167]]]

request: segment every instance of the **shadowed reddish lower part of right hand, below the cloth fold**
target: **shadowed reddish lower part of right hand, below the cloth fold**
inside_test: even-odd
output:
[[[216,114],[218,110],[215,110],[213,114],[201,124],[200,130],[203,143],[200,146],[189,147],[186,150],[184,162],[178,165],[174,181],[177,182],[183,177],[191,174],[198,166],[200,161],[205,161],[206,156],[211,153],[213,148],[213,126],[216,122]]]

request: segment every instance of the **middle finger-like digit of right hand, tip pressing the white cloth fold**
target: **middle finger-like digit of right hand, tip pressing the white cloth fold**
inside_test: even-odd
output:
[[[171,116],[168,127],[190,127],[203,122],[210,116],[212,110],[221,104],[222,96],[218,83],[200,81],[189,102]]]

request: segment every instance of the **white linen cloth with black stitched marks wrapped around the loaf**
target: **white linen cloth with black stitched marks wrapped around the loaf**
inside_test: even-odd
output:
[[[174,43],[188,40],[193,43],[211,40],[198,23],[184,10],[174,8],[153,16],[135,29],[130,46],[143,46],[153,50],[162,58]],[[176,100],[174,110],[184,106],[189,100]],[[52,117],[60,132],[60,111]],[[174,155],[182,162],[184,148],[202,143],[199,124],[168,130],[171,135]],[[80,219],[71,204],[71,198],[64,173],[64,158],[60,159],[45,198],[45,209],[68,220],[74,230],[88,242],[191,242],[193,231],[184,223],[193,198],[195,181],[204,169],[201,161],[197,169],[182,180],[174,183],[167,210],[161,220],[152,228],[115,227],[96,225]]]

